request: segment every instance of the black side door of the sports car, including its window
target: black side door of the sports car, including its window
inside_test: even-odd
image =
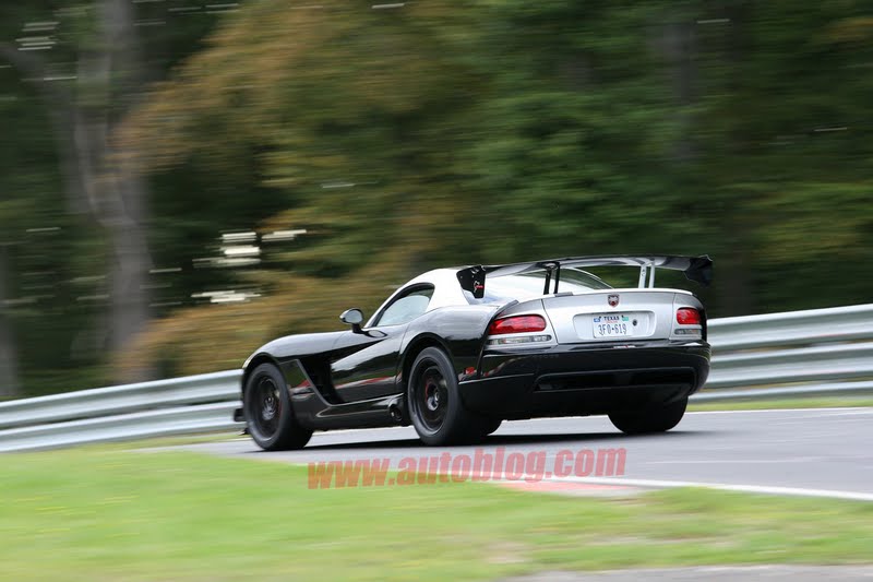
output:
[[[424,314],[432,296],[433,285],[411,285],[380,309],[371,326],[339,338],[331,363],[339,400],[357,402],[397,392],[404,334],[412,320]]]

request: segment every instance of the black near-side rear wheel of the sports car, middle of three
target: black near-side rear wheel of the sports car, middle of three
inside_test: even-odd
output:
[[[482,418],[464,408],[452,363],[440,348],[426,347],[412,363],[407,402],[426,444],[471,442],[485,435]]]

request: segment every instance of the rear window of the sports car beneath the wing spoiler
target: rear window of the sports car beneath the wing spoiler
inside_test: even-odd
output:
[[[554,288],[553,285],[554,281],[549,285],[550,290]],[[531,271],[517,275],[486,277],[485,297],[481,299],[474,299],[469,292],[464,292],[464,295],[470,304],[497,304],[512,299],[524,301],[542,297],[545,286],[546,271]],[[585,293],[610,288],[612,287],[600,277],[579,269],[562,269],[561,278],[558,282],[558,293]]]

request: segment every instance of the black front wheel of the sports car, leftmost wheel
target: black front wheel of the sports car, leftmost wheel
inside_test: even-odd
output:
[[[258,366],[249,376],[242,409],[249,435],[265,451],[301,449],[312,437],[294,417],[285,378],[272,364]]]

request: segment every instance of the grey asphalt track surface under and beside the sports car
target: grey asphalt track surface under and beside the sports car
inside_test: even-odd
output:
[[[873,501],[871,444],[873,408],[826,408],[689,413],[670,432],[637,437],[622,435],[606,417],[522,420],[504,423],[480,446],[445,449],[422,447],[411,427],[320,432],[300,451],[267,453],[248,438],[187,448],[301,464],[388,459],[392,470],[404,458],[444,452],[473,458],[476,449],[493,453],[501,448],[505,456],[542,451],[547,468],[558,466],[558,455],[566,470],[575,466],[560,456],[566,451],[624,448],[623,475],[551,475],[515,485],[542,490],[698,485]]]

